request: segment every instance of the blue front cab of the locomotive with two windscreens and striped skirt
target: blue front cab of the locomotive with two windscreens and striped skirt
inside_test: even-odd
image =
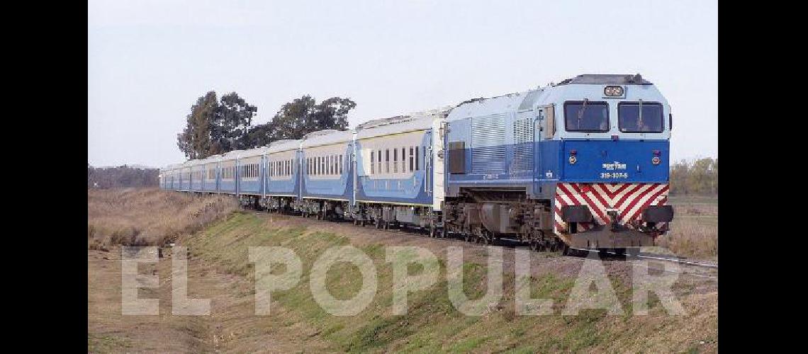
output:
[[[576,248],[653,244],[673,219],[667,100],[639,75],[581,75],[553,89],[558,132],[539,143],[559,152],[541,160],[553,231]]]

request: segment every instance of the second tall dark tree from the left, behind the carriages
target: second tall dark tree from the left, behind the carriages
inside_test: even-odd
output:
[[[213,120],[211,155],[250,148],[247,133],[257,111],[235,92],[222,96]]]

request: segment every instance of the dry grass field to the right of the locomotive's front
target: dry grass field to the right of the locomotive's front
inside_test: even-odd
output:
[[[671,198],[674,220],[671,231],[658,244],[679,256],[718,259],[718,197]]]

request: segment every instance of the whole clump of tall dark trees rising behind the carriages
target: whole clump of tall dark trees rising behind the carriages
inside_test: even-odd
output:
[[[281,106],[268,123],[253,125],[258,107],[235,92],[217,98],[210,91],[191,106],[185,129],[177,135],[177,146],[188,159],[204,159],[276,140],[301,139],[311,131],[344,130],[347,114],[354,107],[350,98],[333,97],[318,103],[304,95]]]

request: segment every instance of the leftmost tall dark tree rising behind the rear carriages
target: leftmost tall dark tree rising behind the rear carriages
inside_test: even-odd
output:
[[[197,98],[196,104],[191,106],[191,113],[185,118],[185,129],[177,135],[177,146],[188,159],[204,159],[212,155],[211,133],[217,109],[216,92],[213,91]]]

